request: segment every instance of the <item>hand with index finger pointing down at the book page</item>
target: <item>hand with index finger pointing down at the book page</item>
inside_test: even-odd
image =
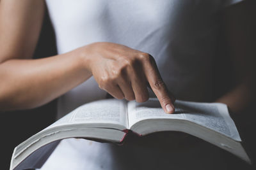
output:
[[[115,43],[93,43],[84,48],[86,67],[100,89],[116,99],[145,102],[149,84],[164,111],[173,113],[174,97],[166,89],[151,55]]]

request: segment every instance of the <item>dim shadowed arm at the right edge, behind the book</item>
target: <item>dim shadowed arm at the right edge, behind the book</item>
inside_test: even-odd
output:
[[[240,113],[255,99],[255,21],[251,12],[250,1],[230,6],[225,11],[224,25],[236,86],[217,102],[227,104],[234,113]]]

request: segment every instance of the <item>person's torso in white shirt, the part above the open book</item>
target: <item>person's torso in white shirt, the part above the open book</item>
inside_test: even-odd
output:
[[[223,1],[46,0],[58,53],[97,41],[109,41],[150,53],[168,89],[177,99],[210,101],[212,62]],[[150,96],[153,96],[150,92]],[[103,99],[93,78],[60,97],[67,113]]]

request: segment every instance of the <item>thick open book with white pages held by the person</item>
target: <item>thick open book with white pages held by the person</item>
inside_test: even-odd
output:
[[[145,103],[105,99],[84,104],[17,146],[10,169],[42,166],[61,139],[122,143],[127,130],[139,136],[160,131],[186,132],[250,163],[225,104],[175,101],[174,105],[175,113],[167,114],[154,98]]]

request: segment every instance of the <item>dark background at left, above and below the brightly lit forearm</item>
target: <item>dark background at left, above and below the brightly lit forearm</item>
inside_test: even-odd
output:
[[[55,35],[52,31],[48,13],[46,13],[34,58],[36,59],[52,55],[56,55]],[[10,159],[15,146],[52,124],[55,117],[56,100],[32,110],[0,113],[0,169],[10,169]]]

